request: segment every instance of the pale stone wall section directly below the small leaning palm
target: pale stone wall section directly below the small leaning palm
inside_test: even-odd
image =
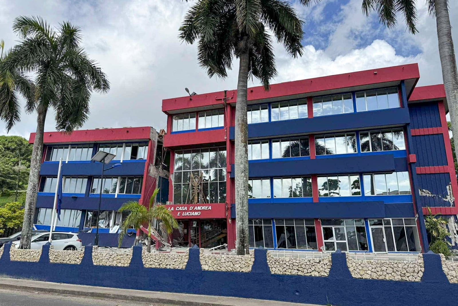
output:
[[[142,249],[142,261],[145,268],[184,269],[189,258],[189,250],[185,253],[148,253]]]

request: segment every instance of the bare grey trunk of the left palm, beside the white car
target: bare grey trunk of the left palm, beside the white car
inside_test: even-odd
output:
[[[43,157],[43,134],[44,121],[46,120],[46,109],[37,110],[37,133],[33,142],[32,158],[30,160],[30,174],[27,185],[27,195],[24,210],[24,221],[22,223],[21,245],[22,249],[30,249],[30,238],[32,237],[33,217],[38,194],[38,179],[40,177],[41,160]]]

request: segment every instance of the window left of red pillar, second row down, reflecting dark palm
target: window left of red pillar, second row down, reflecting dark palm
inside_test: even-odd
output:
[[[310,156],[307,137],[272,140],[272,158],[299,156]]]

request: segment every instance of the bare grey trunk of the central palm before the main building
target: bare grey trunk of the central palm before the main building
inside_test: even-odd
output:
[[[235,104],[235,226],[237,233],[235,247],[237,255],[245,255],[250,251],[248,243],[248,125],[246,120],[249,68],[249,50],[247,49],[242,48],[240,52],[237,103]]]

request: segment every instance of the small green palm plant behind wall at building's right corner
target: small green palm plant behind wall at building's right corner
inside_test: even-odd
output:
[[[446,258],[452,256],[452,252],[448,248],[451,244],[446,240],[449,235],[447,228],[448,223],[444,217],[437,217],[440,214],[433,215],[431,208],[427,207],[428,214],[425,215],[425,228],[431,236],[430,250],[436,254],[443,254]]]

